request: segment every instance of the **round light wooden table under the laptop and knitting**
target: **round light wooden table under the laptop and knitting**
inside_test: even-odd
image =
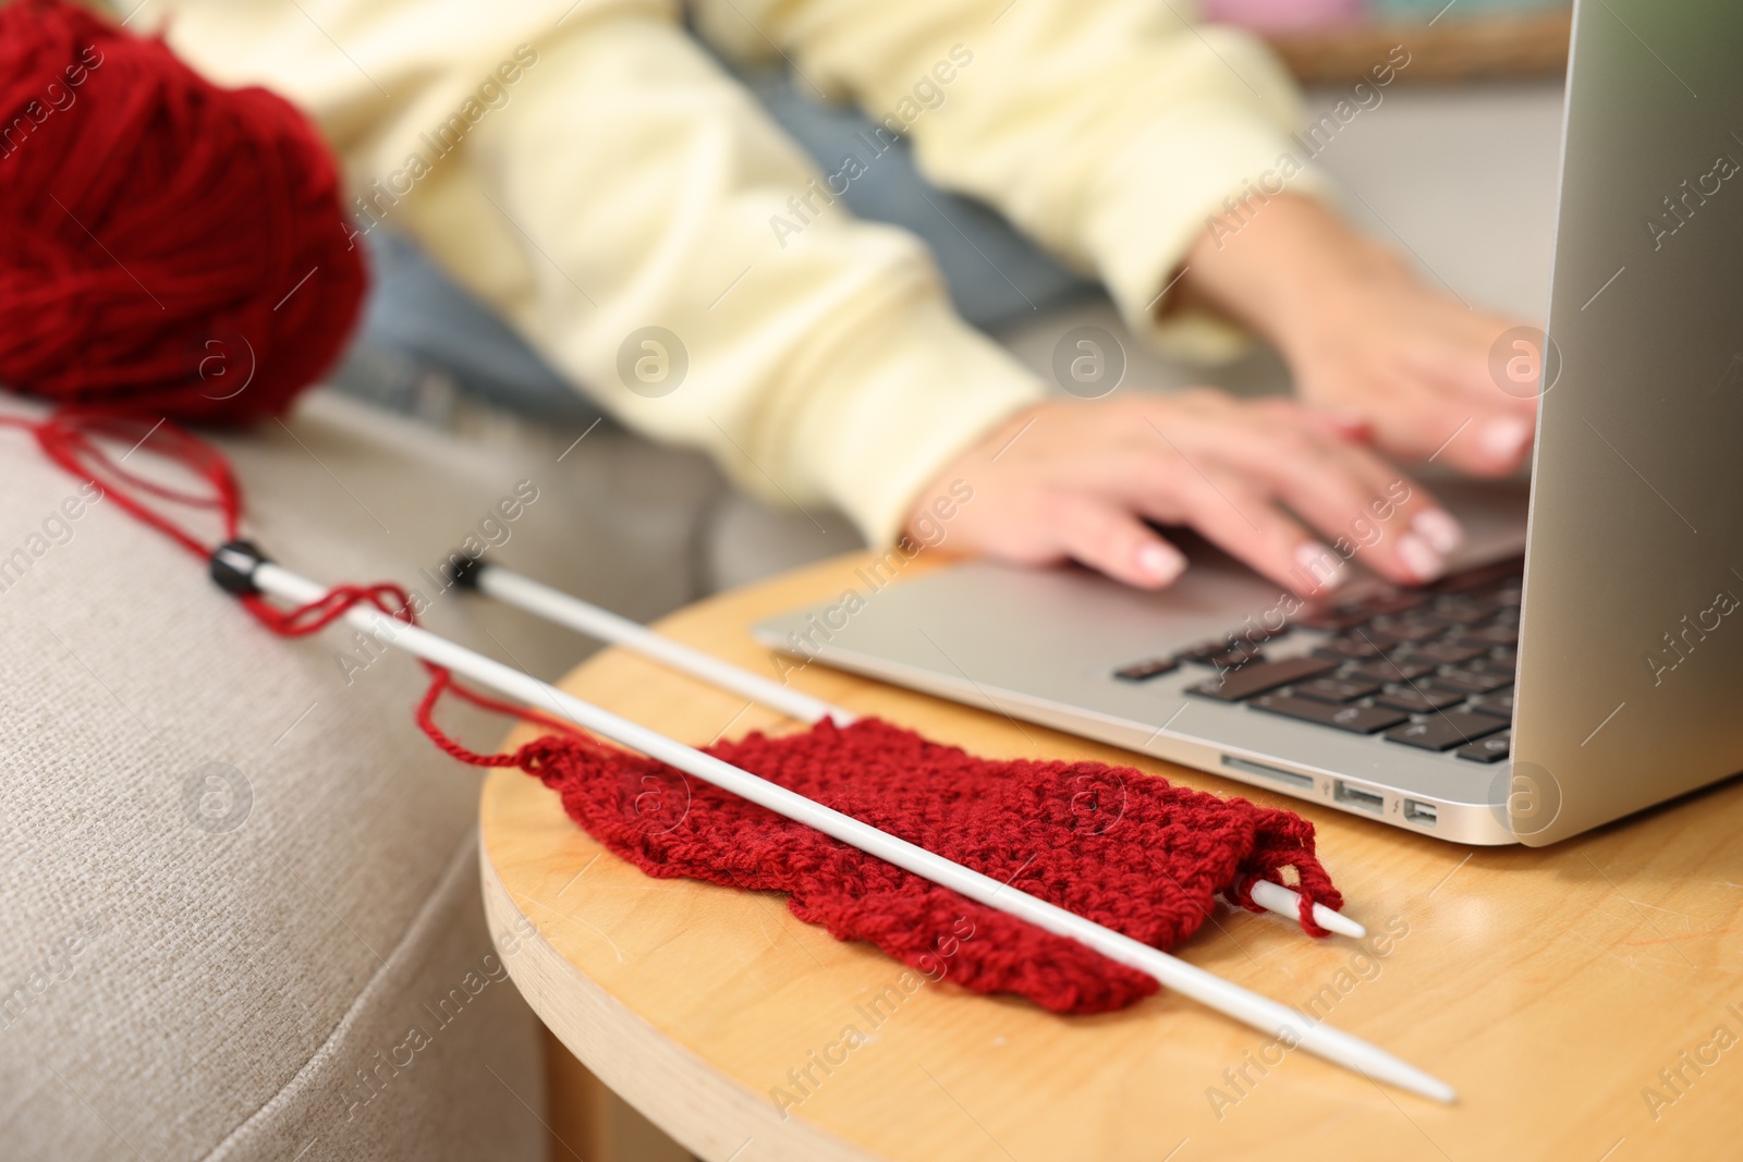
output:
[[[772,672],[748,627],[833,599],[858,563],[704,601],[662,629]],[[1546,850],[1459,848],[821,665],[793,681],[980,754],[1136,765],[1302,812],[1351,915],[1391,932],[1384,948],[1224,913],[1180,955],[1312,1002],[1462,1099],[1380,1089],[1166,993],[1056,1017],[943,983],[908,995],[826,1077],[812,1066],[819,1084],[783,1118],[770,1091],[797,1092],[790,1070],[863,1026],[856,1005],[903,967],[800,923],[776,894],[650,880],[537,780],[492,774],[483,883],[509,972],[563,1044],[702,1159],[1743,1155],[1740,782]],[[699,746],[791,728],[617,650],[563,685]]]

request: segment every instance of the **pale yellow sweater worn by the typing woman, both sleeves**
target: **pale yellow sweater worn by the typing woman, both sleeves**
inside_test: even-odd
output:
[[[701,0],[694,21],[905,131],[934,183],[1098,275],[1136,331],[1203,350],[1213,324],[1157,324],[1156,300],[1297,111],[1257,42],[1173,3]],[[359,230],[415,237],[627,425],[777,503],[833,503],[873,544],[1042,395],[952,312],[915,239],[830,204],[852,172],[816,172],[675,3],[157,0],[132,26],[305,108]],[[647,326],[683,345],[668,394],[621,375],[659,373],[657,348],[626,350]]]

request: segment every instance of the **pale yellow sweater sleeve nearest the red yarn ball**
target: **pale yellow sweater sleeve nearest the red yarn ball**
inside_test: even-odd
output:
[[[915,239],[831,204],[669,3],[146,12],[214,80],[321,124],[359,230],[415,237],[615,416],[776,503],[833,503],[887,542],[952,456],[1042,395],[952,312]]]

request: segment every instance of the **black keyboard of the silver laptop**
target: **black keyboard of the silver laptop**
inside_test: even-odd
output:
[[[1114,676],[1140,683],[1204,669],[1187,693],[1495,763],[1508,758],[1513,723],[1522,568],[1513,559],[1428,589],[1307,605],[1281,629],[1248,622]],[[1312,634],[1307,653],[1272,657],[1279,639],[1302,631]]]

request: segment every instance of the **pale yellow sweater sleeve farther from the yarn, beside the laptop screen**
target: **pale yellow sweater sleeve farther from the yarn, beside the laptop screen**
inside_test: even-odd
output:
[[[1238,347],[1232,328],[1163,310],[1192,240],[1213,218],[1238,228],[1260,186],[1328,190],[1269,49],[1187,14],[1185,0],[699,0],[697,23],[723,52],[779,52],[817,96],[905,132],[929,179],[1098,275],[1135,333],[1215,359]]]

